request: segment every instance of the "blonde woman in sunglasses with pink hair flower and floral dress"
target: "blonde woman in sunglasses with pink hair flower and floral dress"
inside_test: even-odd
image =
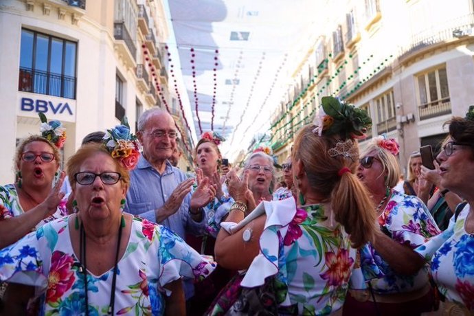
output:
[[[363,271],[370,267],[375,273],[359,279],[365,283],[352,282],[359,290],[349,291],[343,315],[420,315],[433,307],[429,273],[414,249],[440,231],[420,199],[393,190],[400,175],[396,155],[395,139],[385,137],[372,139],[361,153],[357,176],[372,196],[384,234],[359,251]]]

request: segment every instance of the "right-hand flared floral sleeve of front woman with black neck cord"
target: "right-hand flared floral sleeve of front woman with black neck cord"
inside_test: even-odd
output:
[[[181,277],[201,280],[214,269],[216,262],[210,256],[201,256],[170,229],[158,225],[155,233],[159,240],[159,284],[166,284]]]

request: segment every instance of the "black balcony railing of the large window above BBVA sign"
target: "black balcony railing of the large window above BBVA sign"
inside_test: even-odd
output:
[[[19,91],[76,99],[76,77],[20,68]]]

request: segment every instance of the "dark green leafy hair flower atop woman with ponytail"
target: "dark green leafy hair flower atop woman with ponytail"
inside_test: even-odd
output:
[[[372,120],[367,112],[334,97],[321,98],[321,107],[315,115],[313,133],[340,135],[343,139],[364,139]]]

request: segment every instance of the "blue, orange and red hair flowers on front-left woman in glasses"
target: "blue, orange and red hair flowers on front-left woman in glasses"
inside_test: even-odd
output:
[[[137,136],[130,132],[126,117],[122,119],[120,125],[106,131],[103,142],[112,158],[118,159],[126,170],[132,170],[137,166],[140,144]]]

